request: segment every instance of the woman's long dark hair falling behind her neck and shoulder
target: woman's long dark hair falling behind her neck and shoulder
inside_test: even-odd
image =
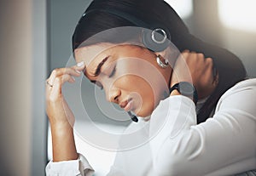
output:
[[[189,49],[189,51],[202,53],[206,57],[212,58],[218,71],[218,86],[206,103],[202,105],[197,115],[197,123],[205,122],[221,95],[234,86],[236,82],[246,78],[245,68],[235,54],[224,48],[204,43],[191,35],[183,20],[164,0],[94,0],[85,10],[85,16],[81,17],[73,33],[73,50],[79,48],[81,43],[98,32],[120,26],[137,26],[130,20],[101,11],[101,9],[114,9],[131,14],[149,26],[161,23],[167,27],[170,33],[169,39],[181,52]]]

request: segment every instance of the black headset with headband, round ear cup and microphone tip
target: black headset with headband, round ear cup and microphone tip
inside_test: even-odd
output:
[[[143,20],[139,20],[135,16],[132,16],[131,14],[126,14],[116,9],[90,9],[89,11],[83,14],[82,18],[86,14],[90,14],[93,12],[106,12],[108,14],[113,14],[125,20],[129,20],[131,23],[133,23],[138,27],[143,27],[144,28],[142,31],[143,45],[151,51],[154,51],[154,52],[163,51],[171,43],[170,33],[166,29],[166,27],[163,25],[158,26],[154,24],[154,26],[149,26]],[[128,115],[131,117],[131,120],[133,122],[138,122],[137,116],[131,114],[131,111],[128,111]]]

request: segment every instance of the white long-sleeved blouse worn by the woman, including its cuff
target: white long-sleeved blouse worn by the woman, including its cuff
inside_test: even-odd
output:
[[[126,129],[143,125],[133,139],[145,142],[119,151],[105,175],[221,176],[247,171],[248,175],[256,175],[256,79],[230,88],[218,100],[213,114],[206,122],[196,124],[191,99],[177,95],[160,101],[148,122],[140,119]],[[119,146],[131,140],[120,139]],[[78,160],[49,162],[46,166],[48,176],[93,173],[93,167],[81,154]]]

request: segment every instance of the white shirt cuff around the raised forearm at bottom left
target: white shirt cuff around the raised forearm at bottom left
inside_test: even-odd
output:
[[[93,168],[86,158],[79,154],[78,160],[50,161],[45,167],[46,176],[92,176]]]

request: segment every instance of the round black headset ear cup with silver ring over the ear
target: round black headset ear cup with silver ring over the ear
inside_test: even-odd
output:
[[[165,32],[166,39],[163,40],[162,43],[158,43],[155,39],[157,38],[164,38],[163,34],[160,34],[156,30],[162,30],[160,28],[155,29],[155,30],[148,30],[148,29],[143,29],[142,33],[142,40],[143,44],[146,48],[154,51],[154,52],[160,52],[165,50],[169,44],[171,43],[170,40],[168,39],[168,33],[166,31],[162,30]]]

